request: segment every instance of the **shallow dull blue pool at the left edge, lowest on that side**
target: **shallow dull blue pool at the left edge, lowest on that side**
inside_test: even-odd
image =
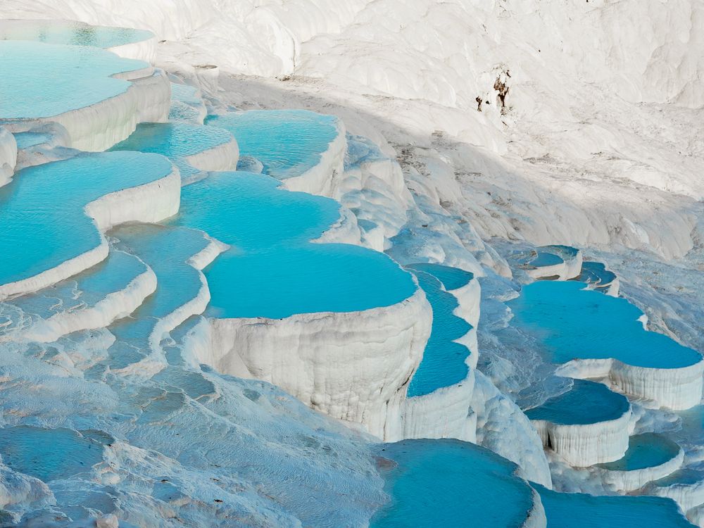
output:
[[[0,455],[13,470],[44,482],[87,472],[103,459],[103,444],[72,429],[0,428]]]

